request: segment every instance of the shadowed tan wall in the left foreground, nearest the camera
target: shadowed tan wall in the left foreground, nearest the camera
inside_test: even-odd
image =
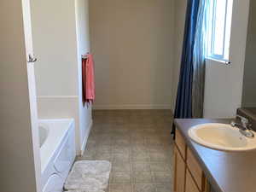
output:
[[[35,192],[37,183],[21,1],[0,3],[1,191]]]

